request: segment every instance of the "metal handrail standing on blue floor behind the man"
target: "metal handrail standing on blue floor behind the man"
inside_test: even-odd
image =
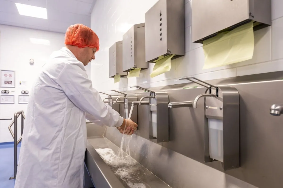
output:
[[[22,122],[21,122],[21,137],[19,138],[19,140],[17,140],[18,138],[18,117],[21,115],[22,118]],[[20,141],[22,140],[23,137],[23,120],[25,120],[25,114],[22,111],[19,112],[15,112],[14,113],[14,120],[12,121],[12,123],[9,125],[9,131],[12,134],[12,137],[14,138],[14,177],[10,177],[9,180],[11,179],[15,179],[16,175],[17,175],[17,146],[20,143]],[[11,129],[12,125],[14,124],[14,133]]]

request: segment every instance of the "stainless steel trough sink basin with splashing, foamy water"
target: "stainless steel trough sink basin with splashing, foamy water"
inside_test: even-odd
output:
[[[170,188],[104,136],[88,137],[85,164],[96,187]]]

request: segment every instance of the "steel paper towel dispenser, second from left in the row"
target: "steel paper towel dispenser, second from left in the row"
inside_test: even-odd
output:
[[[132,26],[123,35],[123,71],[148,68],[145,62],[145,23]]]

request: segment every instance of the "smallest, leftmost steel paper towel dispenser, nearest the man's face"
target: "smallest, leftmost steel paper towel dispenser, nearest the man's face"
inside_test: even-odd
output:
[[[118,41],[109,48],[109,78],[113,78],[116,75],[121,75],[121,78],[127,76],[128,73],[122,70],[122,60],[123,41]]]

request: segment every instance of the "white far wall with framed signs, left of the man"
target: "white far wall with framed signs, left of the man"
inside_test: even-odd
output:
[[[64,46],[64,34],[0,25],[0,37],[0,69],[14,70],[16,78],[15,88],[0,88],[15,95],[15,104],[0,104],[0,118],[12,118],[14,112],[26,110],[26,104],[18,104],[18,95],[22,90],[30,91],[34,78],[50,54]],[[31,43],[30,38],[46,39],[50,45]],[[31,58],[35,61],[34,65],[29,64]],[[20,86],[20,81],[27,81],[27,85]],[[18,120],[20,132],[20,117]],[[0,121],[0,142],[13,141],[8,131],[10,123],[11,120]]]

